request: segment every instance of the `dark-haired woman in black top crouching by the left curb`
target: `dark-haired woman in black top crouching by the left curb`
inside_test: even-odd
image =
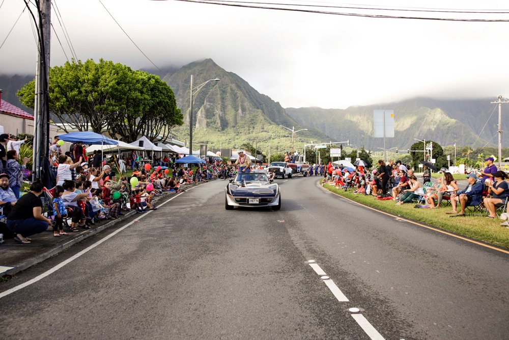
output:
[[[51,220],[42,215],[42,201],[39,196],[43,188],[42,182],[35,180],[30,186],[30,192],[21,196],[7,215],[7,228],[16,233],[14,240],[22,244],[30,243],[29,236],[52,226]]]

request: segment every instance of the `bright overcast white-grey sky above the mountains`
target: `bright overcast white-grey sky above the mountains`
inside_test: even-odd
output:
[[[159,68],[211,58],[285,108],[343,109],[416,96],[493,100],[500,94],[509,96],[509,22],[367,18],[173,0],[101,1]],[[52,2],[58,7],[78,59],[103,58],[136,69],[153,67],[99,0]],[[0,73],[32,74],[37,60],[32,19],[25,11],[15,24],[23,1],[0,3],[0,44],[13,29],[0,48]],[[384,1],[383,5],[373,0],[285,3],[509,12],[506,1],[490,0]],[[509,19],[509,14],[353,11]],[[72,56],[56,13],[54,8],[51,66],[66,61],[63,50],[69,60]]]

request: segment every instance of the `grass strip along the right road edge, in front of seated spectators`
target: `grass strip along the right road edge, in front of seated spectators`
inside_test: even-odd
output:
[[[449,215],[445,214],[445,212],[451,211],[450,207],[417,209],[414,208],[415,204],[412,203],[395,205],[392,200],[381,201],[373,196],[352,194],[352,192],[344,192],[342,189],[337,190],[333,186],[327,184],[323,187],[340,196],[378,210],[416,222],[422,222],[494,246],[509,249],[509,229],[500,226],[502,222],[500,219],[488,219],[485,215],[451,218]]]

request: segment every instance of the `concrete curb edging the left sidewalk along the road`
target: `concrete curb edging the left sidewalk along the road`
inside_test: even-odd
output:
[[[197,186],[197,185],[189,185],[185,188],[185,190],[189,189],[189,188],[192,188],[194,186]],[[168,193],[169,194],[169,193]],[[166,198],[166,197],[169,197],[169,196],[173,196],[173,194],[169,194],[169,195],[163,195],[163,196],[160,196],[160,197],[156,197],[154,198],[154,202],[158,202],[159,200],[163,199],[163,198]],[[9,270],[6,270],[5,272],[3,273],[0,273],[0,277],[4,277],[4,276],[13,276],[14,274],[16,273],[19,273],[27,268],[30,268],[34,265],[37,265],[38,263],[41,263],[42,261],[50,258],[50,257],[53,257],[61,252],[63,252],[64,250],[67,250],[69,249],[71,246],[77,244],[77,243],[80,243],[92,236],[94,236],[95,234],[103,231],[104,229],[106,228],[109,228],[111,226],[114,226],[116,225],[117,223],[119,222],[122,222],[122,221],[125,221],[126,219],[132,217],[133,215],[136,215],[136,212],[135,211],[130,211],[128,212],[127,214],[125,214],[125,216],[120,216],[118,219],[116,220],[112,220],[112,221],[109,221],[105,224],[102,224],[100,226],[98,226],[97,228],[92,228],[92,229],[87,229],[87,232],[83,233],[83,234],[79,234],[78,236],[75,236],[74,238],[70,239],[69,241],[65,242],[65,243],[62,243],[62,244],[59,244],[59,245],[56,245],[55,247],[51,248],[51,249],[48,249],[42,253],[39,253],[37,255],[35,255],[34,257],[31,257],[27,260],[25,260],[24,262],[22,263],[19,263],[17,265],[14,265],[12,269],[9,269]]]

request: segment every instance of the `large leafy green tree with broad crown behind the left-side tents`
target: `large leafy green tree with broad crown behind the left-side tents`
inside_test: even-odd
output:
[[[32,81],[17,92],[27,107],[34,107],[34,89]],[[60,121],[79,131],[107,129],[126,142],[138,135],[155,141],[183,124],[172,89],[159,77],[102,59],[51,68],[49,97],[51,114]]]

